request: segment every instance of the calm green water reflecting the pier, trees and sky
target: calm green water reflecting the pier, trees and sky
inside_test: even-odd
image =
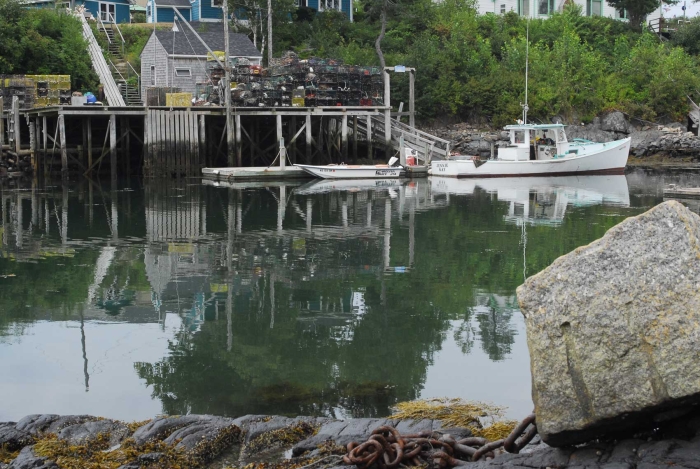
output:
[[[2,188],[0,421],[531,408],[515,289],[688,174]]]

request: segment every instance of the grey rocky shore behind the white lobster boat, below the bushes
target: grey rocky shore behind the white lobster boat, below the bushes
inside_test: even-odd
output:
[[[480,129],[461,123],[446,127],[426,128],[426,132],[452,142],[452,148],[463,154],[488,158],[494,151],[508,144],[508,132]],[[631,122],[621,112],[597,117],[587,125],[570,125],[567,137],[585,138],[595,142],[610,142],[631,137],[630,164],[654,165],[661,162],[692,162],[700,159],[700,137],[687,132],[685,125],[673,123],[655,125]]]

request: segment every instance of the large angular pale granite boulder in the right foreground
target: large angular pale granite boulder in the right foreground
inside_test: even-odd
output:
[[[700,217],[665,202],[518,288],[546,443],[655,428],[700,401],[698,252]]]

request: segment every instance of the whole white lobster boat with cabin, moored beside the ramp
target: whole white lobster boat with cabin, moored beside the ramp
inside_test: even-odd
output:
[[[456,155],[433,161],[429,174],[447,177],[567,176],[623,174],[630,138],[596,143],[569,142],[562,124],[508,125],[510,143],[498,149],[498,158]]]

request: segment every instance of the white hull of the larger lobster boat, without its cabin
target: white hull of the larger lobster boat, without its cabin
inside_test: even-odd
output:
[[[579,174],[623,174],[631,139],[608,143],[576,145],[579,156],[534,161],[488,160],[477,166],[472,160],[434,161],[432,176],[444,177],[522,177],[573,176]]]

